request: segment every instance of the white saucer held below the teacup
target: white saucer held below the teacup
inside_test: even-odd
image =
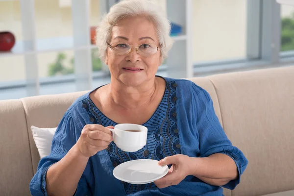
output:
[[[124,162],[113,170],[117,179],[130,184],[148,184],[162,178],[169,172],[169,167],[159,166],[152,159],[138,159]]]

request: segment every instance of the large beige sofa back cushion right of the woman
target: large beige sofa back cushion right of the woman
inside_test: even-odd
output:
[[[224,130],[249,162],[232,195],[294,189],[294,66],[209,78]]]

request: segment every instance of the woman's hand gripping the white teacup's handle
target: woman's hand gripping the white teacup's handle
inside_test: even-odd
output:
[[[108,128],[100,124],[86,124],[81,136],[76,142],[80,153],[86,157],[95,155],[98,151],[104,150],[113,141],[112,133]]]

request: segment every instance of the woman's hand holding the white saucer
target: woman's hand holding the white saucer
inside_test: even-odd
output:
[[[168,156],[160,160],[158,163],[160,166],[172,164],[172,167],[164,177],[156,180],[154,184],[160,189],[179,184],[187,175],[190,175],[189,162],[190,157],[183,154]]]

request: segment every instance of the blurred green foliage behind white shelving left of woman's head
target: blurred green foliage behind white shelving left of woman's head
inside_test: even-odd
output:
[[[98,57],[98,49],[91,50],[91,57],[92,57],[92,71],[100,71],[102,69],[102,62]],[[70,67],[66,67],[64,65],[66,60],[66,54],[63,52],[59,52],[55,59],[55,62],[49,64],[49,76],[53,75],[66,75],[70,73],[74,73],[74,58],[70,59]]]

